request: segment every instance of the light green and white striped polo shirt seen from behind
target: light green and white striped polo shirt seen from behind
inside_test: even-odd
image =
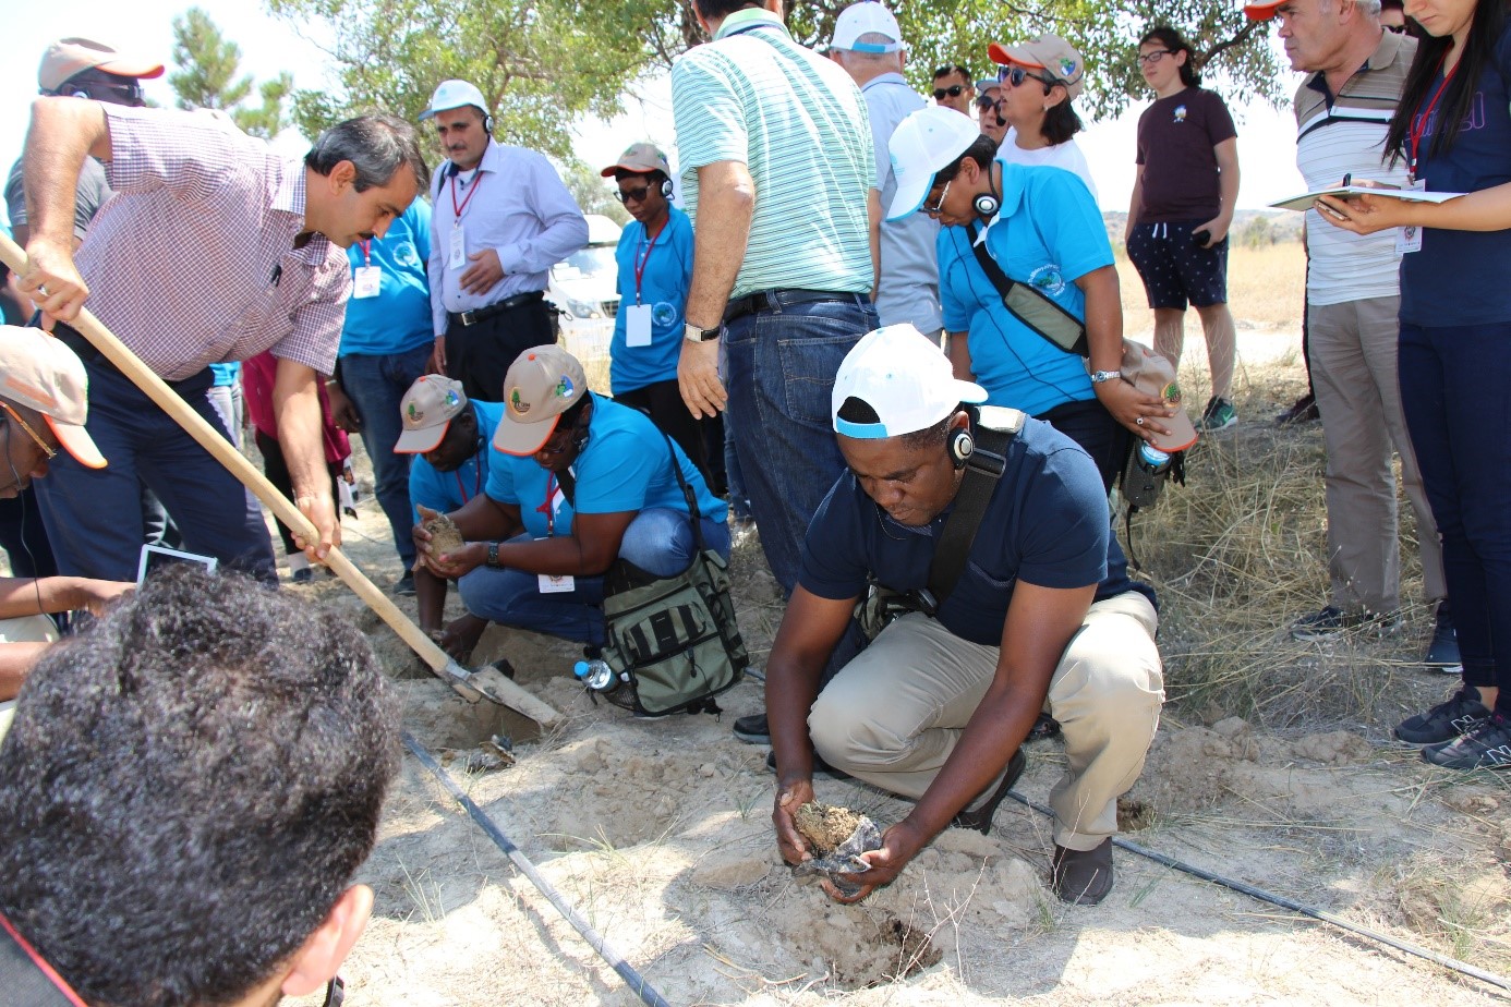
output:
[[[698,217],[698,168],[740,162],[756,183],[731,297],[799,287],[866,293],[866,196],[876,184],[870,119],[837,63],[792,41],[769,11],[745,9],[671,68],[677,156]]]

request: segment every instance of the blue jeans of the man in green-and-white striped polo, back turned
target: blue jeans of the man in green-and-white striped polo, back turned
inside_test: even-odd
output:
[[[876,328],[870,299],[810,300],[736,319],[728,326],[728,415],[762,550],[790,595],[802,539],[845,471],[834,439],[834,374]]]

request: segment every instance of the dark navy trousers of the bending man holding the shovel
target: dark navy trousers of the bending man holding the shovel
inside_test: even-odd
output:
[[[85,364],[85,371],[86,427],[109,465],[85,468],[60,451],[48,463],[47,479],[36,482],[57,571],[136,580],[142,551],[141,483],[147,483],[178,525],[183,548],[277,584],[272,542],[257,498],[128,379],[98,359]],[[177,388],[195,412],[230,439],[205,394],[209,368]]]

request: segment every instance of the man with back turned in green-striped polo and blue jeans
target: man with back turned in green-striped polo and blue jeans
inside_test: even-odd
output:
[[[876,328],[870,119],[849,75],[792,41],[780,0],[694,11],[713,41],[671,69],[694,217],[677,379],[692,412],[728,406],[762,548],[790,595],[808,519],[845,468],[828,426],[834,373]],[[740,720],[736,735],[766,740],[765,717]]]

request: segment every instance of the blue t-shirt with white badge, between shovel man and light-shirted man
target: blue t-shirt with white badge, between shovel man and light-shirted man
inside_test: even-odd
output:
[[[364,248],[366,246],[366,248]],[[381,284],[376,297],[358,297],[355,288],[346,302],[340,355],[387,356],[431,346],[431,204],[417,198],[372,242],[357,242],[346,249],[352,275],[363,266],[376,266]]]

